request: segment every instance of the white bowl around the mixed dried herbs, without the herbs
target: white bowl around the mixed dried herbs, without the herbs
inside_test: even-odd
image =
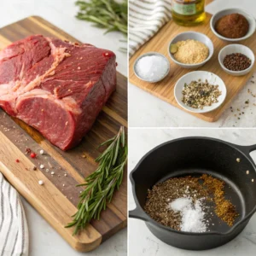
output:
[[[203,109],[191,108],[182,102],[184,84],[190,84],[191,81],[198,81],[199,79],[201,79],[201,81],[207,79],[209,84],[218,85],[218,89],[222,92],[221,96],[218,97],[218,102],[213,103],[212,106],[204,107]],[[216,74],[207,71],[194,71],[183,75],[183,77],[178,79],[174,88],[174,96],[178,105],[193,113],[207,113],[218,108],[224,102],[226,95],[227,89],[224,81]]]

